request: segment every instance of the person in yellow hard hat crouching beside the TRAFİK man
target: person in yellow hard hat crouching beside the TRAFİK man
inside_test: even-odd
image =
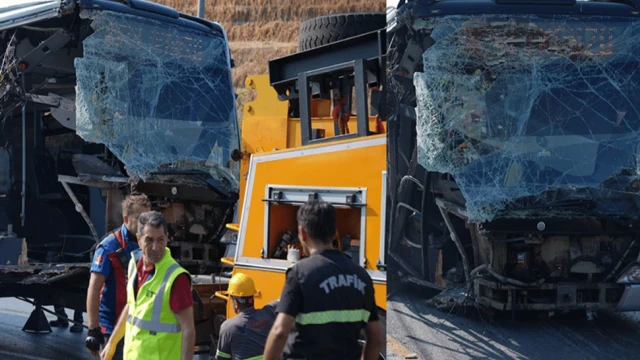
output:
[[[236,273],[231,277],[227,292],[233,311],[238,316],[222,323],[215,358],[259,359],[264,352],[269,330],[276,319],[278,300],[256,310],[253,297],[257,292],[253,280],[242,273]]]

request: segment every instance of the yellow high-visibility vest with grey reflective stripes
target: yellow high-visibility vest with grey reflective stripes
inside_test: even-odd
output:
[[[135,257],[129,262],[127,282],[127,318],[125,360],[180,360],[182,332],[178,319],[171,311],[169,298],[171,286],[178,275],[186,273],[165,249],[162,260],[155,264],[153,277],[140,287],[134,297],[134,280],[137,278]]]

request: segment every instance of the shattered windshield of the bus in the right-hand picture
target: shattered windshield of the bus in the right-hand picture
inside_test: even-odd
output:
[[[450,16],[419,27],[432,46],[414,77],[418,159],[454,176],[470,221],[578,199],[640,216],[637,21]]]

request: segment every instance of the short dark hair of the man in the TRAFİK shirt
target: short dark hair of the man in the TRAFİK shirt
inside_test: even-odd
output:
[[[309,201],[298,209],[298,225],[311,240],[329,244],[336,234],[336,211],[328,202]]]

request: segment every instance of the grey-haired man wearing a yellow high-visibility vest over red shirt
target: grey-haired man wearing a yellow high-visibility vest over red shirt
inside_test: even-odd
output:
[[[138,219],[140,250],[129,262],[127,305],[100,353],[111,360],[124,337],[126,360],[193,360],[196,329],[191,276],[172,257],[165,217]]]

